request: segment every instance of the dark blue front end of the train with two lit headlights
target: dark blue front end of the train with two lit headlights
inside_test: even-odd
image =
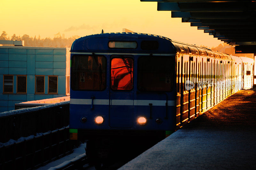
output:
[[[103,158],[128,139],[164,139],[176,125],[175,53],[170,39],[156,35],[77,39],[71,47],[70,139],[89,140],[91,158]]]

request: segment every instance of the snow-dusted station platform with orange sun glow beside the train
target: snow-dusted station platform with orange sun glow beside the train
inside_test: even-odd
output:
[[[256,90],[240,90],[120,169],[256,169]]]

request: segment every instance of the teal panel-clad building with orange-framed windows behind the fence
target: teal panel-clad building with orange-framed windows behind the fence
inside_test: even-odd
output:
[[[70,48],[0,46],[0,112],[69,95]]]

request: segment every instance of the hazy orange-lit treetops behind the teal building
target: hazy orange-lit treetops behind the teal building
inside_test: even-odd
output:
[[[29,37],[29,35],[24,34],[23,36],[16,36],[15,34],[12,37],[7,37],[7,33],[3,31],[2,35],[0,36],[0,40],[24,40],[25,46],[31,47],[71,47],[72,43],[77,39],[80,38],[78,35],[74,35],[69,38],[65,38],[64,35],[60,35],[60,33],[56,34],[53,39],[49,38],[38,38],[36,36]]]

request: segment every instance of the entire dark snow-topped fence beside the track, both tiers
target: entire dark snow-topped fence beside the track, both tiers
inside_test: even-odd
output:
[[[0,170],[36,169],[68,155],[68,125],[69,101],[0,113]]]

